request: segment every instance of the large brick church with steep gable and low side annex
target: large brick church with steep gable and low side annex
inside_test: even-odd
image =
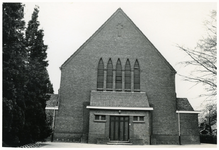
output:
[[[198,112],[175,69],[121,8],[61,69],[53,141],[199,144]]]

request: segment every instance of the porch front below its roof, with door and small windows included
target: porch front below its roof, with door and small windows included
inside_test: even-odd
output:
[[[89,110],[88,143],[150,144],[150,111]]]

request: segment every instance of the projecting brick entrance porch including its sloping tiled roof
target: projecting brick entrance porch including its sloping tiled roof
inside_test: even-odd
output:
[[[88,143],[150,144],[151,111],[145,92],[91,91]]]

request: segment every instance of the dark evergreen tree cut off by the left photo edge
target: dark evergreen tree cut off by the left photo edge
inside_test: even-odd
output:
[[[3,3],[3,146],[19,145],[25,124],[24,25],[23,5]]]

